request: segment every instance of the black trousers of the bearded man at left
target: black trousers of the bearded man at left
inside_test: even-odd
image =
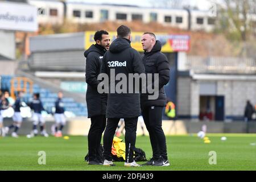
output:
[[[90,121],[90,130],[88,133],[88,160],[95,160],[100,156],[101,137],[106,126],[106,116],[97,115],[91,117]]]

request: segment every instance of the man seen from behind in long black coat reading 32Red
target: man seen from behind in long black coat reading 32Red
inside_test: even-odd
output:
[[[127,80],[129,74],[144,73],[141,55],[131,48],[131,30],[127,26],[117,28],[117,39],[110,45],[102,60],[101,73],[108,75],[110,93],[108,94],[108,105],[106,117],[108,118],[106,130],[104,132],[104,166],[114,166],[112,162],[112,142],[120,118],[125,120],[125,166],[139,167],[133,159],[136,130],[140,111],[139,93],[121,92],[117,90],[111,92],[111,84],[117,85],[119,81],[115,76],[122,73]],[[110,75],[110,73],[114,74]],[[105,86],[105,85],[104,85]],[[129,84],[127,85],[127,89]],[[127,90],[126,90],[127,91]]]

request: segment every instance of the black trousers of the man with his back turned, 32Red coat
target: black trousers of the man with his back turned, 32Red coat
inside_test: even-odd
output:
[[[124,118],[125,119],[125,162],[133,162],[133,151],[136,142],[136,130],[137,130],[137,118]],[[120,118],[108,118],[106,130],[104,132],[104,158],[106,160],[112,160],[111,151],[112,143],[117,129]]]

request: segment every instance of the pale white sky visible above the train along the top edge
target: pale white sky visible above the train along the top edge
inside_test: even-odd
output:
[[[87,3],[116,3],[125,5],[138,5],[144,7],[151,7],[150,0],[68,0],[69,2],[87,2]],[[157,0],[155,0],[157,1]],[[182,0],[184,5],[197,6],[200,10],[208,10],[210,7],[209,0]]]

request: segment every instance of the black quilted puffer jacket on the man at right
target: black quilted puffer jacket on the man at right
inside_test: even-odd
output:
[[[167,57],[160,52],[161,43],[156,40],[155,46],[150,52],[144,52],[142,61],[146,73],[159,73],[159,96],[156,100],[148,100],[148,93],[141,94],[141,106],[166,106],[166,93],[163,86],[169,82],[170,67]]]

